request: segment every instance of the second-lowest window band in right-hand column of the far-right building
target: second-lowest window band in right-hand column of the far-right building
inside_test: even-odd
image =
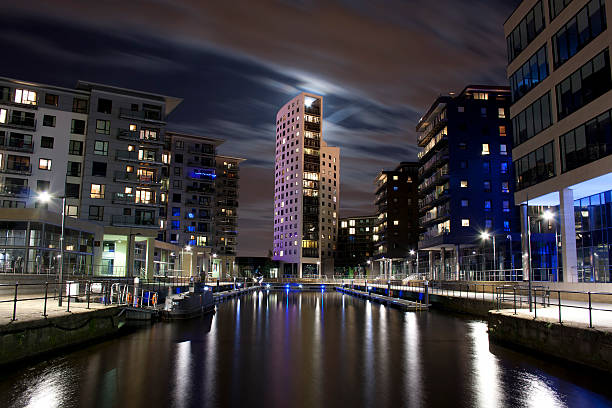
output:
[[[610,55],[606,49],[557,85],[558,120],[576,112],[611,88]]]

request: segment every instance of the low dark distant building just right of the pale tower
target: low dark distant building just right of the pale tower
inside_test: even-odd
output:
[[[340,218],[335,269],[341,274],[371,275],[377,215]]]

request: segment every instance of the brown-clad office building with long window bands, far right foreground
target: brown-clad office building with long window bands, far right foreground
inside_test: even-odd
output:
[[[554,207],[564,282],[612,277],[610,13],[605,0],[524,0],[504,24],[523,252],[533,208]]]

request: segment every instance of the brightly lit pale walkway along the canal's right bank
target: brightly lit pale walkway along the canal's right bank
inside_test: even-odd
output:
[[[384,284],[368,284],[375,288],[387,289]],[[391,290],[402,290],[416,293],[424,293],[422,287],[396,286],[391,285]],[[474,299],[475,301],[486,301],[495,303],[497,298],[493,293],[483,293],[476,291],[458,291],[429,288],[430,295],[449,296],[463,299]],[[555,293],[553,292],[553,295]],[[610,298],[612,301],[612,297]],[[431,302],[431,300],[430,300]],[[529,312],[527,296],[517,296],[517,315],[531,317],[536,320],[546,320],[559,323],[559,301],[556,297],[543,299],[537,297],[537,305]],[[543,306],[543,303],[546,306]],[[512,294],[506,294],[505,301],[501,304],[501,309],[506,310],[506,314],[514,314],[514,298]],[[612,332],[612,303],[591,302],[589,311],[588,301],[581,302],[576,300],[561,299],[561,323],[568,323],[577,327],[592,327]]]

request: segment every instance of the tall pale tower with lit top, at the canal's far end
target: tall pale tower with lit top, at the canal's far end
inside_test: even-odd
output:
[[[285,275],[331,275],[340,149],[322,137],[323,98],[301,93],[276,115],[274,260]]]

